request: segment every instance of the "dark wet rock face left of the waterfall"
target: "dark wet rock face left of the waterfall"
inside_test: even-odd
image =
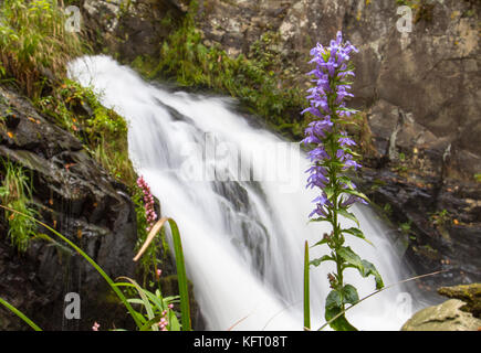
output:
[[[32,172],[33,202],[41,218],[80,245],[106,272],[134,276],[136,215],[125,186],[116,183],[82,143],[40,116],[18,94],[0,88],[0,158]],[[2,212],[3,214],[3,212]],[[20,308],[44,330],[128,328],[125,309],[111,300],[104,279],[69,247],[34,240],[15,254],[0,223],[0,297]],[[39,227],[55,239],[48,229]],[[57,239],[57,238],[56,238]],[[81,320],[64,318],[64,296],[81,296]],[[98,313],[101,317],[97,317]],[[103,322],[101,322],[103,321]],[[27,329],[0,308],[0,330]]]

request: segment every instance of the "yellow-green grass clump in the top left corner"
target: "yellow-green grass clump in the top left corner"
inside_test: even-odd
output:
[[[63,77],[65,63],[82,53],[56,0],[4,0],[0,17],[0,63],[30,97],[40,95],[48,76]]]

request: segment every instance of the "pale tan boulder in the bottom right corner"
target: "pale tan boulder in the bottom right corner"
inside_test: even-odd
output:
[[[478,331],[481,320],[461,311],[464,302],[450,299],[442,304],[422,309],[414,314],[401,331]]]

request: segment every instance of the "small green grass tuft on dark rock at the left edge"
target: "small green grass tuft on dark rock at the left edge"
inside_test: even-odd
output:
[[[21,167],[3,161],[4,174],[0,186],[1,204],[30,217],[6,211],[9,224],[8,236],[20,253],[27,252],[30,240],[36,235],[35,223],[31,217],[36,215],[32,204],[32,184]]]

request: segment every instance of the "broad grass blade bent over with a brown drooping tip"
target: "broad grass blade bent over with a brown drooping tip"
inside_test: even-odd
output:
[[[180,239],[179,228],[177,227],[177,223],[169,217],[160,218],[151,228],[150,233],[147,235],[147,238],[140,250],[134,257],[134,261],[137,261],[145,250],[148,248],[150,243],[154,240],[155,236],[158,234],[160,228],[168,222],[170,225],[170,231],[172,234],[174,242],[174,252],[176,255],[176,266],[177,266],[177,281],[179,285],[179,296],[180,296],[180,319],[182,323],[182,331],[191,331],[190,323],[190,303],[189,303],[189,291],[187,286],[187,274],[186,274],[186,265],[184,260],[184,250],[182,243]]]

